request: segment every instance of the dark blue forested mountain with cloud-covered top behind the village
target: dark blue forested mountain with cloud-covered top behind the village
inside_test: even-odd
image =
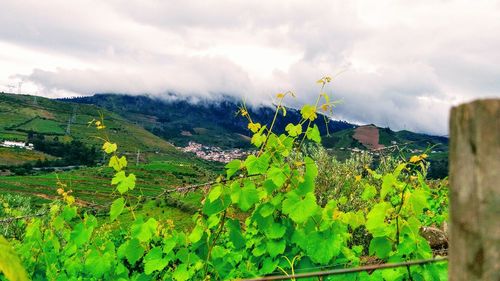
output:
[[[91,97],[68,99],[71,102],[95,104],[125,116],[148,131],[178,146],[189,141],[222,148],[248,147],[250,132],[247,120],[237,116],[239,101],[190,103],[186,100],[165,101],[147,96],[97,94]],[[269,124],[274,110],[269,107],[249,108],[255,122]],[[284,131],[290,122],[300,120],[300,113],[288,109],[285,117],[278,118],[275,128]],[[322,134],[326,134],[323,118],[316,121]],[[354,125],[343,121],[330,121],[328,130],[337,132]]]

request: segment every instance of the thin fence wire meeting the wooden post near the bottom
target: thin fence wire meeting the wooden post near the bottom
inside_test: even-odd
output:
[[[243,279],[242,281],[269,281],[269,280],[286,280],[286,279],[302,279],[308,277],[321,277],[321,276],[331,276],[331,275],[339,275],[339,274],[347,274],[347,273],[356,273],[362,271],[373,271],[377,269],[388,269],[388,268],[396,268],[396,267],[408,267],[414,265],[424,265],[430,263],[437,263],[447,261],[447,257],[441,258],[433,258],[427,260],[416,260],[416,261],[408,261],[408,262],[398,262],[398,263],[385,263],[378,265],[367,265],[360,266],[355,268],[343,268],[343,269],[332,269],[326,271],[318,271],[318,272],[308,272],[308,273],[299,273],[299,274],[290,274],[290,275],[279,275],[279,276],[265,276],[265,277],[257,277],[250,279]]]

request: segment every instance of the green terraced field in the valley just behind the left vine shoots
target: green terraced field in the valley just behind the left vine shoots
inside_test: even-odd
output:
[[[208,182],[217,174],[203,162],[182,161],[155,161],[131,166],[129,171],[137,177],[137,186],[131,195],[143,197],[156,196],[167,188]],[[58,197],[56,190],[60,181],[73,191],[79,205],[106,206],[116,195],[110,184],[112,175],[111,168],[94,167],[33,176],[0,176],[0,194],[19,193],[33,197],[36,204],[42,204]],[[199,206],[201,193],[171,193],[171,198],[195,209]]]

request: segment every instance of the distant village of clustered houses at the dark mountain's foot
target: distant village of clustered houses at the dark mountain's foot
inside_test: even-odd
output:
[[[223,150],[217,146],[205,146],[192,141],[180,149],[184,152],[194,153],[199,158],[222,163],[229,163],[233,159],[240,159],[248,155],[248,152],[242,149]]]

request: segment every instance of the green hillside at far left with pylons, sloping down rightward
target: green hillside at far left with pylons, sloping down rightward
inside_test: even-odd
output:
[[[28,133],[88,146],[100,145],[95,128],[87,123],[102,113],[106,133],[124,151],[157,151],[180,154],[170,143],[123,117],[94,105],[74,104],[27,95],[0,94],[0,140],[26,141]]]

